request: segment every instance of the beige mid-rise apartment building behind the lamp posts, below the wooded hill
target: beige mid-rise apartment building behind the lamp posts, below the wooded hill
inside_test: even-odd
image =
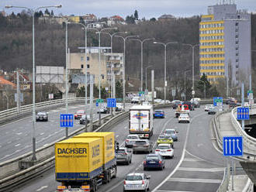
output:
[[[85,47],[78,47],[80,52],[71,53],[71,63],[69,69],[71,74],[85,74],[87,67],[88,74],[95,75],[95,84],[99,86],[99,77],[101,78],[101,86],[109,87],[112,70],[116,75],[116,81],[122,79],[123,75],[123,53],[110,53],[111,47],[101,47],[100,50],[100,68],[99,72],[99,47],[88,47],[85,58]],[[85,66],[85,59],[87,66]],[[74,73],[73,73],[74,72]]]

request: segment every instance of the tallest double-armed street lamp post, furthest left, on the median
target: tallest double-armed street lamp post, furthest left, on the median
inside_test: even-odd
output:
[[[36,160],[36,77],[35,77],[35,12],[39,9],[45,9],[45,8],[61,8],[62,5],[51,5],[51,6],[41,6],[36,9],[31,9],[28,7],[22,7],[22,6],[12,6],[12,5],[6,5],[6,9],[10,8],[22,8],[22,9],[27,9],[32,12],[32,47],[33,47],[33,138],[32,138],[32,150],[33,150],[33,156],[32,160]]]

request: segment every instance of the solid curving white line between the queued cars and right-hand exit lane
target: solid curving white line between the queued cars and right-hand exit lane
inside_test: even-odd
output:
[[[201,113],[199,115],[195,115],[194,118],[192,118],[192,121],[191,123],[189,123],[188,125],[188,129],[187,129],[187,132],[186,132],[186,135],[185,135],[185,143],[184,143],[184,147],[183,147],[183,150],[182,150],[182,157],[181,159],[179,160],[177,166],[175,167],[175,169],[168,175],[168,177],[166,177],[159,185],[157,185],[157,187],[154,187],[154,190],[152,190],[152,192],[155,192],[157,191],[166,181],[168,181],[169,178],[171,178],[171,176],[173,176],[173,174],[178,170],[178,167],[182,165],[182,161],[185,157],[185,148],[187,146],[187,142],[188,142],[188,139],[189,139],[189,129],[190,129],[190,126],[192,125],[192,122],[193,120],[196,118],[196,117],[199,117],[200,115],[202,115],[204,113]]]

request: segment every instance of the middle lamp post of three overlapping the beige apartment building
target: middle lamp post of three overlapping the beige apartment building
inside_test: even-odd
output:
[[[103,29],[96,29],[97,30],[97,34],[99,34],[99,99],[102,98],[102,95],[101,95],[101,79],[102,79],[102,70],[101,70],[101,46],[100,46],[100,35],[102,33],[102,31],[104,30],[110,30],[110,29],[117,29],[116,27],[109,27],[109,28],[103,28]],[[101,105],[101,103],[100,103]],[[101,115],[101,111],[99,110],[99,125],[102,124],[102,115]]]

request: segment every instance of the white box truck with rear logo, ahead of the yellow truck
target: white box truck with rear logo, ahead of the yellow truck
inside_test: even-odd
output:
[[[134,105],[130,108],[129,132],[150,139],[153,135],[152,105]]]

